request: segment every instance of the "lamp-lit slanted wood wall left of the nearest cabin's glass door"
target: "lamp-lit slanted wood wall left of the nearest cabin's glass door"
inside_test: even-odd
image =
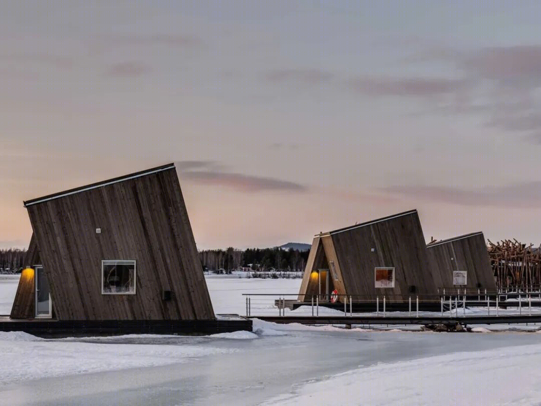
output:
[[[33,267],[34,265],[41,265],[39,263],[39,250],[36,244],[36,238],[34,234],[30,238],[30,244],[28,251],[24,257],[24,267]],[[24,272],[21,274],[19,284],[17,286],[17,292],[15,293],[15,299],[13,306],[11,307],[10,317],[14,319],[27,319],[34,317],[34,301],[35,301],[35,272]]]

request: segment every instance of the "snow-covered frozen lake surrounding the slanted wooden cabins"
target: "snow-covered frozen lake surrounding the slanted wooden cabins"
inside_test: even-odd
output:
[[[242,293],[294,293],[300,279],[208,277],[207,283],[217,313],[242,314]],[[16,277],[0,277],[0,313],[9,312],[16,284]],[[259,321],[255,332],[62,340],[0,333],[0,405],[541,402],[541,333],[382,332]]]

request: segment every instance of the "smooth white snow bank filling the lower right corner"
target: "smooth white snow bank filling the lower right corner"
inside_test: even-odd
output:
[[[541,401],[541,345],[381,363],[295,388],[264,405],[501,405]]]

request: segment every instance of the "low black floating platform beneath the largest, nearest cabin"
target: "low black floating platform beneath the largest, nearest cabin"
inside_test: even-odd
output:
[[[209,335],[252,331],[252,320],[219,315],[216,320],[55,320],[0,316],[0,331],[24,331],[42,338],[118,336],[125,334]]]

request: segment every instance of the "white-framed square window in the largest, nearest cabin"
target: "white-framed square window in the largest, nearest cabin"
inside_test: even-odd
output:
[[[135,261],[102,261],[102,294],[135,294]]]

